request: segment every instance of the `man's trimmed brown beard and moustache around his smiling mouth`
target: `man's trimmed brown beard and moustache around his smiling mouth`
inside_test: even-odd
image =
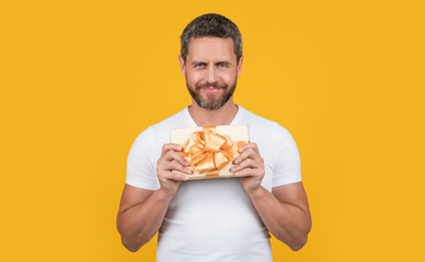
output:
[[[234,90],[237,88],[237,82],[238,82],[238,78],[234,80],[232,86],[230,86],[230,90],[227,84],[218,84],[218,82],[195,85],[195,87],[193,87],[187,83],[187,79],[186,79],[186,86],[187,86],[188,93],[191,93],[192,98],[196,102],[196,104],[199,107],[207,110],[217,110],[221,108],[233,95]],[[199,95],[200,88],[204,88],[204,87],[221,88],[222,94],[220,96],[217,96],[217,94],[208,94],[207,98],[204,99]]]

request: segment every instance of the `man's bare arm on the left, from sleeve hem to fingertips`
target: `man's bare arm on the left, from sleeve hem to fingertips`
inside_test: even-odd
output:
[[[184,167],[187,166],[185,159],[175,152],[180,148],[175,144],[163,146],[157,166],[161,184],[159,190],[146,190],[129,184],[124,188],[116,224],[124,247],[131,252],[139,250],[157,234],[181,181],[187,180],[187,176],[172,170],[192,172],[192,169]]]

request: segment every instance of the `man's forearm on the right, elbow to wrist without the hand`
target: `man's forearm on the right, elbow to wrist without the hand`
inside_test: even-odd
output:
[[[299,206],[279,202],[265,188],[260,187],[249,193],[264,225],[280,241],[297,251],[307,242],[311,218],[308,211]]]

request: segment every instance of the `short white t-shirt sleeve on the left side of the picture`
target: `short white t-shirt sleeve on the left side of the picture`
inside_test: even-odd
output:
[[[133,143],[127,157],[127,184],[148,190],[159,189],[156,165],[152,163],[153,139],[153,132],[148,128]]]

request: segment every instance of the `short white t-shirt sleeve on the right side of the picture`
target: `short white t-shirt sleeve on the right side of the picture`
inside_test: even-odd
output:
[[[301,181],[301,160],[297,144],[287,129],[275,123],[276,158],[272,188]]]

